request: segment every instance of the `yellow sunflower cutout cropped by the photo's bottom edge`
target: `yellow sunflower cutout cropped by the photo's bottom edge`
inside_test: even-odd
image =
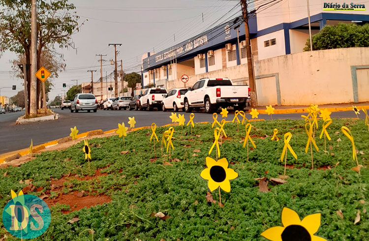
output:
[[[315,235],[320,227],[320,212],[301,220],[296,211],[284,207],[281,219],[283,226],[269,228],[260,235],[270,241],[327,241]]]

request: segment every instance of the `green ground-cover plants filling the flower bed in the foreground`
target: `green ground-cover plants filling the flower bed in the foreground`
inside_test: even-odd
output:
[[[320,134],[321,124],[319,121],[316,136]],[[173,166],[163,165],[163,161],[169,160],[168,156],[160,157],[159,144],[155,145],[153,153],[153,144],[149,143],[150,129],[129,133],[125,137],[125,147],[118,136],[90,140],[90,171],[82,151],[83,142],[64,151],[42,152],[20,167],[0,170],[0,207],[10,200],[10,189],[18,193],[26,186],[19,183],[20,180],[33,179],[33,185],[44,187],[41,192],[30,193],[41,196],[51,189],[50,180],[66,174],[85,177],[104,168],[101,172],[107,173],[106,176],[85,181],[69,179],[64,182],[61,192],[83,190],[89,195],[105,194],[111,196],[112,202],[68,214],[61,212],[68,209],[65,205],[50,207],[50,227],[36,240],[85,241],[92,240],[93,233],[95,241],[263,241],[261,232],[282,225],[280,211],[283,206],[296,210],[300,217],[321,211],[322,223],[317,235],[328,240],[369,240],[369,215],[365,211],[369,210],[369,170],[361,169],[361,176],[351,170],[356,166],[352,160],[351,143],[340,131],[342,125],[350,128],[357,150],[364,151],[364,154],[358,153],[359,164],[368,166],[369,132],[363,120],[335,119],[328,128],[332,137],[332,141],[327,141],[329,153],[322,151],[324,139],[316,137],[321,151],[313,150],[314,170],[310,170],[310,153],[305,153],[304,121],[257,121],[252,125],[251,136],[255,136],[256,149],[249,151],[248,162],[246,149],[240,143],[245,137],[245,128],[240,125],[240,131],[237,131],[234,123],[226,123],[224,127],[229,138],[223,139],[220,146],[221,157],[234,163],[230,168],[239,174],[239,178],[231,181],[230,193],[222,192],[223,208],[207,203],[207,182],[200,178],[205,157],[214,141],[211,124],[196,124],[193,135],[190,135],[190,127],[175,127],[175,150],[171,155],[180,162],[171,162]],[[274,128],[279,130],[278,142],[270,140]],[[168,127],[156,129],[159,139],[166,129]],[[270,192],[262,193],[254,179],[283,175],[283,163],[279,158],[284,145],[283,134],[288,131],[293,135],[290,144],[298,160],[288,152],[287,164],[293,164],[295,168],[287,169],[286,175],[290,177],[287,183],[274,185],[269,182]],[[194,152],[196,149],[201,151]],[[129,153],[121,154],[121,151]],[[194,153],[198,156],[193,156]],[[155,156],[158,159],[151,162],[150,158]],[[215,150],[211,156],[215,158]],[[332,168],[316,170],[322,166]],[[5,172],[6,176],[3,175]],[[53,192],[52,195],[58,194]],[[213,196],[218,200],[217,190]],[[338,216],[338,210],[343,212],[343,219]],[[354,225],[357,210],[361,211],[361,221]],[[170,218],[164,221],[150,215],[159,211]],[[80,218],[78,222],[67,223],[76,215]],[[1,234],[5,233],[2,227]]]

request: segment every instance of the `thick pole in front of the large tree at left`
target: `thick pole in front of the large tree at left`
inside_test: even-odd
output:
[[[30,115],[37,115],[37,0],[31,1],[31,88]],[[27,73],[25,73],[27,74]]]

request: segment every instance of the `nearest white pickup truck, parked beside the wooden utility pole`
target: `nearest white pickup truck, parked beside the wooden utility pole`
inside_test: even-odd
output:
[[[193,108],[205,108],[206,113],[214,113],[219,107],[233,107],[243,110],[250,98],[248,86],[236,86],[228,78],[204,78],[188,88],[184,94],[184,110],[191,112]]]

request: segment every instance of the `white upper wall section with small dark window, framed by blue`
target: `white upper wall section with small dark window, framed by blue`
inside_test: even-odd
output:
[[[264,47],[264,41],[276,39],[277,44]],[[259,60],[281,56],[286,54],[284,46],[284,30],[268,33],[257,38]]]

